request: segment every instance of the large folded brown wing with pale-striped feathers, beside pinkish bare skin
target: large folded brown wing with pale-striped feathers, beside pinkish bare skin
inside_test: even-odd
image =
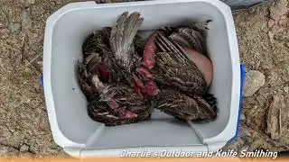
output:
[[[185,51],[162,34],[155,39],[160,51],[156,53],[156,80],[185,92],[204,94],[208,88],[206,81]]]

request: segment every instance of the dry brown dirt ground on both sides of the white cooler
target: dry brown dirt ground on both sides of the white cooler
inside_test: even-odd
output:
[[[45,21],[61,6],[76,1],[0,0],[0,157],[67,156],[51,137],[40,78]],[[266,132],[273,96],[282,94],[289,101],[288,7],[288,0],[280,0],[234,13],[242,63],[266,76],[266,84],[244,98],[240,134],[250,131],[251,144]],[[289,102],[284,104],[289,107]],[[272,141],[277,142],[274,150],[287,149],[288,136],[287,129]],[[228,148],[244,145],[240,140]]]

